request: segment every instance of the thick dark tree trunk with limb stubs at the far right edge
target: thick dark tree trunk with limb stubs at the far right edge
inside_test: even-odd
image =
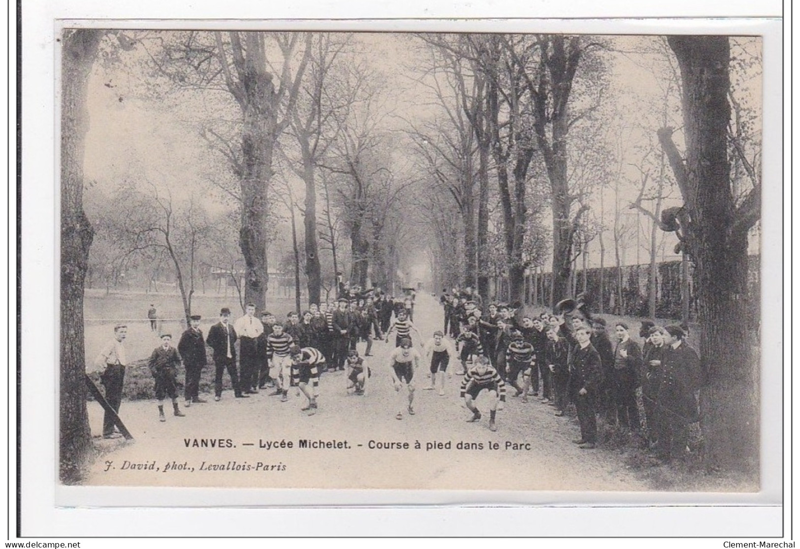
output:
[[[670,130],[659,132],[684,198],[684,238],[698,295],[704,462],[758,475],[758,366],[747,315],[747,230],[760,216],[760,187],[737,210],[730,182],[727,37],[670,37],[683,86],[686,164]]]

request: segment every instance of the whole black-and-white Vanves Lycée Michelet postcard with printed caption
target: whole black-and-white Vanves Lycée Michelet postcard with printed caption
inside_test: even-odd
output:
[[[761,36],[59,32],[58,483],[761,489]]]

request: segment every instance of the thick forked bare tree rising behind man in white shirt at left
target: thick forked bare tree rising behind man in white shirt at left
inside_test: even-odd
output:
[[[210,134],[219,138],[215,148],[228,158],[239,181],[245,299],[263,308],[274,151],[292,120],[311,54],[311,34],[190,31],[158,43],[151,58],[178,88],[226,90],[238,106],[238,146],[216,132]]]

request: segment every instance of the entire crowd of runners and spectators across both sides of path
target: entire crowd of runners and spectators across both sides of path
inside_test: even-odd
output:
[[[278,322],[270,311],[262,311],[257,317],[254,305],[249,303],[245,315],[231,323],[230,309],[222,307],[219,322],[210,327],[206,338],[199,328],[200,316],[192,315],[177,349],[171,346],[172,336],[162,334],[162,344],[150,355],[159,419],[166,421],[163,400],[167,396],[174,415],[184,415],[178,407],[176,378],[181,363],[186,369],[185,407],[206,402],[198,393],[202,367],[206,366],[206,346],[213,350],[215,400],[222,399],[222,378],[227,371],[236,398],[274,389],[272,395],[286,402],[290,387],[298,387],[308,399],[303,410],[314,414],[322,372],[346,369],[354,392],[364,394],[370,369],[358,355],[357,344],[366,342],[365,356],[370,356],[373,340],[388,342],[390,334],[396,333],[390,372],[395,390],[406,387],[402,406],[410,415],[414,414],[412,378],[418,365],[430,363],[430,387],[425,388],[438,387],[439,395],[444,395],[444,375],[452,361],[459,366],[455,373],[464,376],[461,396],[473,413],[470,422],[481,419],[474,400],[486,390],[491,399],[490,429],[494,431],[495,411],[502,409],[508,386],[514,390],[512,396],[521,397],[523,402],[538,397],[554,407],[557,416],[565,415],[570,404],[574,405],[581,428],[580,438],[574,441],[578,447],[596,446],[600,415],[608,424],[645,436],[661,459],[684,455],[687,427],[698,421],[695,393],[700,384],[698,355],[684,341],[684,327],[658,327],[645,321],[638,334],[640,344],[631,337],[627,324],[619,322],[614,325],[612,343],[606,320],[596,316],[548,312],[526,316],[520,311],[520,303],[490,303],[484,314],[482,300],[471,288],[454,288],[452,293],[442,294],[441,303],[444,331],[435,332],[421,346],[422,352],[413,348],[411,339],[412,332],[422,338],[411,320],[413,291],[395,299],[380,291],[361,292],[358,287],[344,286],[335,302],[311,304],[302,315],[291,311],[284,322]],[[118,410],[126,327],[115,327],[114,334],[114,341],[104,348],[98,362],[106,365],[101,378],[106,398]],[[237,342],[238,349],[234,345]],[[643,425],[637,401],[639,387],[645,412]],[[402,419],[403,411],[401,407],[398,419]],[[113,433],[114,420],[108,416],[104,436]]]

